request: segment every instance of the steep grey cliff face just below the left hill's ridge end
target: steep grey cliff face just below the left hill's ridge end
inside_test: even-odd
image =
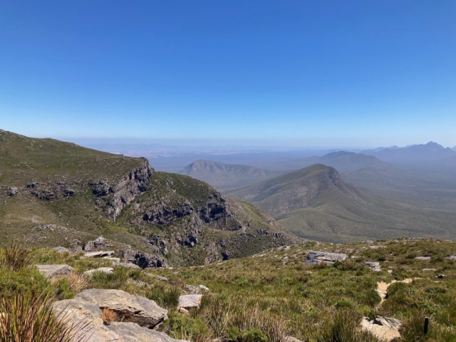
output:
[[[92,183],[93,194],[104,199],[108,204],[108,216],[115,221],[122,209],[140,193],[149,188],[150,177],[154,169],[144,159],[142,165],[124,175],[116,185],[109,185],[107,180]]]

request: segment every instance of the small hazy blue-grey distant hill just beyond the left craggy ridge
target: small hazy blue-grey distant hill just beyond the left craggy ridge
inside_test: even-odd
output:
[[[207,182],[217,189],[234,189],[246,187],[267,178],[280,175],[283,172],[273,172],[249,165],[225,164],[212,160],[196,160],[179,172]]]

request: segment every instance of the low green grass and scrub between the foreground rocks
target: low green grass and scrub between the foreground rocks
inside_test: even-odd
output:
[[[360,321],[363,316],[377,315],[403,321],[401,342],[455,341],[456,263],[448,257],[456,254],[456,244],[430,239],[398,239],[375,244],[386,248],[371,249],[361,243],[316,247],[309,243],[309,246],[269,249],[253,257],[204,267],[146,271],[118,267],[113,274],[94,274],[87,280],[87,287],[122,289],[156,301],[168,309],[169,318],[160,325],[160,330],[189,341],[225,338],[231,342],[284,342],[286,336],[294,336],[305,342],[373,342],[378,340],[361,330]],[[353,258],[332,266],[304,266],[309,249],[346,252]],[[50,255],[46,257],[48,252]],[[32,254],[40,261],[54,261],[49,249],[34,250]],[[422,261],[410,255],[426,255],[431,259]],[[75,269],[105,266],[103,259],[93,259],[87,264],[87,259],[77,254],[63,255],[63,259]],[[376,260],[380,260],[380,272],[364,264]],[[423,271],[425,268],[437,271]],[[73,281],[68,279],[68,284],[62,280],[51,283],[40,280],[41,275],[29,267],[11,271],[2,266],[1,272],[7,272],[9,279],[16,281],[16,289],[25,289],[29,294],[47,289],[48,293],[68,298],[78,291],[71,288]],[[437,278],[438,274],[444,277]],[[159,275],[168,281],[157,279]],[[33,276],[36,285],[33,290],[27,289]],[[415,280],[390,285],[387,299],[380,304],[375,292],[377,282],[405,278]],[[188,315],[177,311],[178,297],[185,293],[185,284],[204,284],[212,293],[204,295],[200,307],[190,309]],[[9,291],[2,290],[2,294],[10,300],[18,292],[10,284]],[[110,316],[113,315],[103,312],[103,321],[110,323],[117,319]],[[427,336],[422,333],[425,316],[430,317]]]

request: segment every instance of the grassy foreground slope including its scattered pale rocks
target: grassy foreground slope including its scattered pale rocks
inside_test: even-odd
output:
[[[68,310],[66,322],[90,323],[83,337],[93,342],[454,342],[456,337],[452,241],[306,242],[217,264],[145,270],[51,249],[21,249],[31,258],[11,269],[10,262],[19,258],[6,252],[0,249],[0,322],[28,314],[14,299],[52,291],[55,296],[39,298],[56,301],[57,313]],[[66,274],[44,276],[52,266],[66,266]],[[111,271],[96,271],[102,266]],[[189,297],[200,303],[189,303]],[[430,318],[427,336],[424,317]],[[37,320],[36,326],[49,323]],[[0,334],[7,327],[0,324]]]

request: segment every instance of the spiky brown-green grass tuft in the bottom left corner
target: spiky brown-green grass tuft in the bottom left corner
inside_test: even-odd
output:
[[[0,341],[68,342],[84,341],[85,326],[72,326],[68,316],[56,316],[47,295],[17,294],[0,303]]]

